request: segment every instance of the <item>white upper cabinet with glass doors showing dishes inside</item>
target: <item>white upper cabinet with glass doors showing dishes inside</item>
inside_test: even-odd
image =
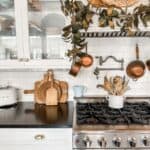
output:
[[[70,68],[68,45],[61,37],[68,21],[60,1],[5,3],[0,1],[0,69]]]

